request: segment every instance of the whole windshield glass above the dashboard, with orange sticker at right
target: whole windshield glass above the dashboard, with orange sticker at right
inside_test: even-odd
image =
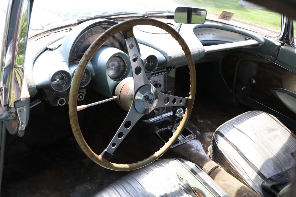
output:
[[[173,15],[179,6],[206,9],[207,20],[227,23],[263,35],[277,37],[281,32],[279,13],[244,0],[34,0],[29,37],[52,28],[74,24],[77,20],[90,16],[131,12],[129,15],[139,17],[156,11],[165,11],[160,13],[162,15]],[[232,13],[233,16],[223,18],[223,11]]]

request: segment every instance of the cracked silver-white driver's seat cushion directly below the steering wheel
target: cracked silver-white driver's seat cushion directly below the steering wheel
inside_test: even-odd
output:
[[[121,177],[96,196],[228,196],[199,167],[162,159]]]

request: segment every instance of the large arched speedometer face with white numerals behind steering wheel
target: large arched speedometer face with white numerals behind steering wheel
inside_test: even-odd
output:
[[[91,43],[93,43],[96,38],[99,37],[99,35],[101,35],[111,27],[112,25],[109,24],[100,24],[84,30],[83,33],[81,33],[79,37],[75,40],[72,46],[70,53],[70,62],[79,61],[82,58],[84,52],[89,48]],[[111,46],[120,49],[124,53],[128,53],[126,42],[123,39],[123,35],[121,33],[116,33],[115,35],[110,37],[103,45]]]

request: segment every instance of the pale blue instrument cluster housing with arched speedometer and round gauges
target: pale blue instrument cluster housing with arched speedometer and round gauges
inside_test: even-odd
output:
[[[67,104],[71,82],[80,59],[102,33],[116,25],[112,20],[91,20],[69,30],[65,38],[48,47],[33,64],[33,78],[37,90],[42,90],[44,99],[53,106]],[[157,50],[141,45],[141,61],[145,72],[153,72],[165,57]],[[141,47],[140,47],[141,48]],[[86,86],[106,97],[113,96],[115,86],[131,77],[131,63],[122,33],[110,37],[91,58],[80,82],[77,100],[83,100]],[[83,95],[81,95],[83,94]],[[63,101],[63,102],[60,102]]]

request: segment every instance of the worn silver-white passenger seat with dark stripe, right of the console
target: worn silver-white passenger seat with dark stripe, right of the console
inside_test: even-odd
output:
[[[295,135],[261,111],[246,112],[221,125],[209,147],[215,162],[262,196],[263,180],[293,167],[295,151]]]

